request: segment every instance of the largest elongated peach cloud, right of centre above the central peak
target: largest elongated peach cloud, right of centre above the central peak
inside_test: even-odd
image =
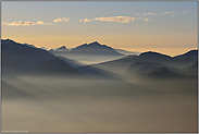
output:
[[[94,20],[99,20],[100,22],[117,22],[117,23],[130,23],[135,21],[135,17],[130,16],[108,16],[108,17],[96,17]]]

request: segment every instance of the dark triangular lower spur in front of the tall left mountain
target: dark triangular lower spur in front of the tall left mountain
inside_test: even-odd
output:
[[[40,64],[39,66],[32,70],[32,73],[36,75],[82,75],[82,73],[79,73],[77,70],[66,64],[62,59],[59,58],[54,58]]]

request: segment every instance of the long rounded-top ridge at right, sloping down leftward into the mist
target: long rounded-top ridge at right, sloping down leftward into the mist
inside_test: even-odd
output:
[[[186,53],[185,53],[186,56]],[[98,64],[92,64],[95,68],[99,68],[105,71],[110,71],[116,74],[124,74],[125,71],[134,63],[134,62],[158,62],[172,68],[183,69],[191,65],[198,56],[194,54],[192,58],[172,58],[166,54],[158,53],[158,52],[142,52],[139,56],[127,56],[117,60],[102,62]]]

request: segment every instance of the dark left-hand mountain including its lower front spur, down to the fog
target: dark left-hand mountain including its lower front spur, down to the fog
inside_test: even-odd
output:
[[[80,74],[47,50],[1,39],[2,74]]]

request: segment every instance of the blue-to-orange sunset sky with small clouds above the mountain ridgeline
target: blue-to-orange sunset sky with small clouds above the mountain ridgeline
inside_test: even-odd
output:
[[[36,47],[99,41],[170,56],[198,48],[197,1],[2,1],[1,38]]]

